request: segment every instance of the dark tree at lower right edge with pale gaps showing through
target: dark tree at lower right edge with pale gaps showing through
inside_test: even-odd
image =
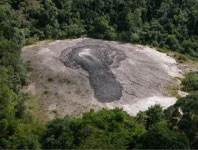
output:
[[[178,128],[190,139],[191,148],[198,148],[198,94],[180,98],[166,110],[172,128]]]

